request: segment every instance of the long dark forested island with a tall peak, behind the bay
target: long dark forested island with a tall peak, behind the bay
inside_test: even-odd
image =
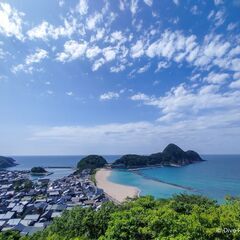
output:
[[[194,151],[184,152],[180,147],[175,144],[169,144],[163,152],[151,154],[149,156],[141,156],[136,154],[128,154],[122,156],[120,159],[113,163],[113,167],[145,167],[149,165],[186,165],[202,161],[198,153]]]

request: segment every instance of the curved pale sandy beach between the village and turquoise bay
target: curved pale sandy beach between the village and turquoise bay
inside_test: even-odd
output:
[[[100,169],[96,173],[96,183],[99,188],[109,195],[116,202],[123,202],[127,197],[136,197],[139,195],[139,189],[136,187],[121,185],[108,181],[111,174],[110,169]]]

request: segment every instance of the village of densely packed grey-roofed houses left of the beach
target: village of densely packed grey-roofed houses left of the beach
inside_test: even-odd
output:
[[[31,235],[76,206],[96,211],[108,201],[90,170],[50,181],[29,179],[29,171],[0,171],[0,230]]]

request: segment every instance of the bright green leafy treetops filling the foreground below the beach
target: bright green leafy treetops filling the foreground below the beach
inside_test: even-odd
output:
[[[239,200],[218,205],[195,195],[168,200],[147,196],[118,206],[109,202],[98,211],[75,208],[21,240],[237,240],[239,228]],[[20,239],[12,234],[2,234],[0,240]]]

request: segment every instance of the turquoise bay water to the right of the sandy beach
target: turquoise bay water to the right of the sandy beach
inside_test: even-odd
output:
[[[240,196],[240,155],[206,155],[203,158],[207,161],[180,168],[149,168],[137,173],[114,170],[109,180],[138,187],[141,195],[150,194],[157,198],[186,192],[202,194],[222,202],[226,195]]]

